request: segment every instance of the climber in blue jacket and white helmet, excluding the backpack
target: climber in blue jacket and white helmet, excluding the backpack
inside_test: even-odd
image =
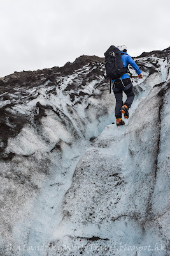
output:
[[[141,70],[139,70],[138,65],[132,60],[132,57],[127,54],[127,47],[125,45],[120,45],[117,47],[122,53],[122,61],[123,66],[127,67],[128,64],[134,68],[136,73],[138,74],[138,78],[143,78],[143,74]],[[122,113],[124,114],[124,118],[129,118],[129,108],[131,108],[131,104],[134,100],[134,87],[132,85],[131,79],[127,73],[121,76],[118,79],[113,79],[113,92],[116,98],[116,106],[115,106],[115,116],[117,126],[124,125],[125,122],[122,120]],[[123,91],[127,95],[127,99],[123,102]]]

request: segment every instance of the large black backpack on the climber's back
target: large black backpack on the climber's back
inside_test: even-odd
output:
[[[108,77],[110,81],[111,79],[120,78],[122,75],[127,73],[127,68],[123,67],[122,53],[117,47],[111,45],[108,51],[104,53],[104,56],[106,77]]]

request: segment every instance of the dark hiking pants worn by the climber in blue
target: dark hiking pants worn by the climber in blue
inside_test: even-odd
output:
[[[123,102],[122,99],[123,91],[127,95],[127,99],[125,102]],[[116,98],[115,116],[116,118],[122,118],[122,106],[124,106],[125,104],[128,108],[131,108],[132,102],[134,100],[134,87],[131,82],[131,79],[126,78],[122,79],[122,81],[120,79],[117,79],[116,81],[114,81],[113,92]]]

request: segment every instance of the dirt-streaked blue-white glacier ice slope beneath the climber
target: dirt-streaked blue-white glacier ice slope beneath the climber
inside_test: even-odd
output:
[[[103,61],[4,77],[1,255],[169,255],[169,49],[136,58],[124,127]]]

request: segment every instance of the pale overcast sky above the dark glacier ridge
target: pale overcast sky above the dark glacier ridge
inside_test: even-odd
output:
[[[170,46],[169,0],[0,0],[0,77],[62,66],[110,45],[131,56]]]

